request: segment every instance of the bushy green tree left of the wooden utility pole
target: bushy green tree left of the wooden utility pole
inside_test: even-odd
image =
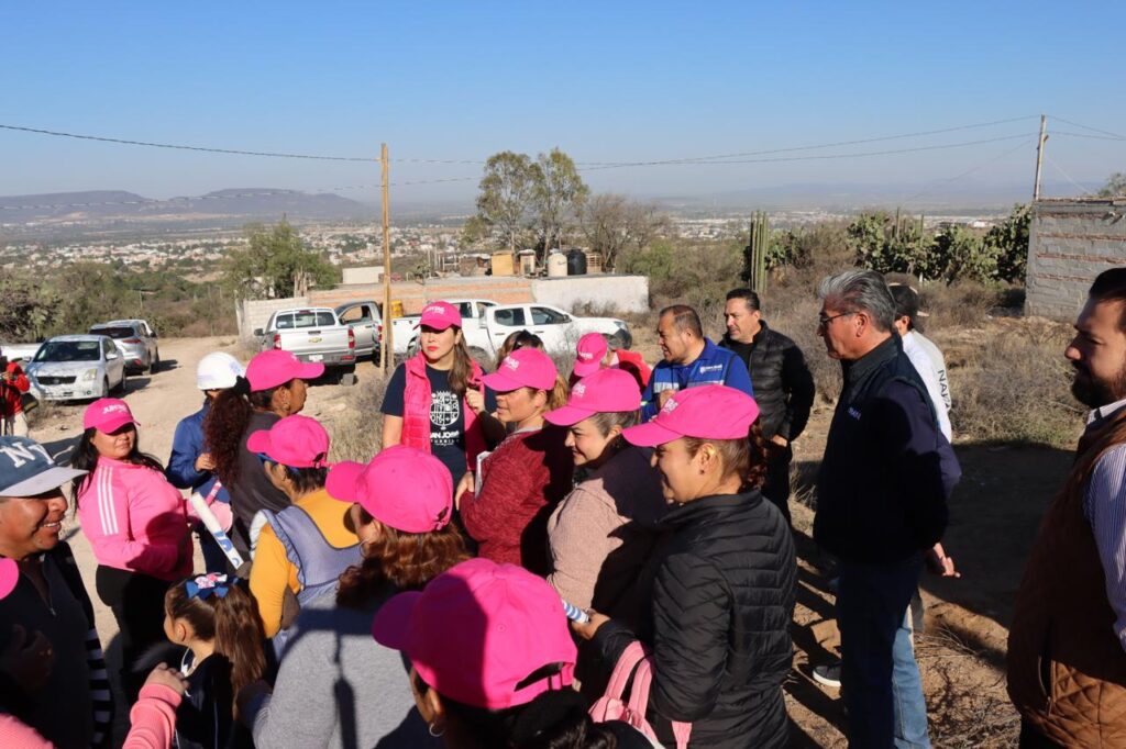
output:
[[[331,286],[339,272],[322,254],[309,250],[288,222],[251,225],[247,246],[227,255],[226,285],[244,299],[297,296],[307,285]]]

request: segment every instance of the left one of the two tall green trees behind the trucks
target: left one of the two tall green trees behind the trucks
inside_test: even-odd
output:
[[[477,195],[477,213],[466,226],[466,238],[489,240],[516,251],[534,225],[536,165],[522,153],[502,151],[485,162]]]

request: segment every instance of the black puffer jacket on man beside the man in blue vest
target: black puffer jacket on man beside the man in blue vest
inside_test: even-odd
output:
[[[760,426],[768,440],[775,434],[793,442],[810,421],[813,407],[813,374],[802,350],[789,337],[767,326],[750,344],[724,335],[720,346],[734,351],[751,373],[754,400],[762,412]]]

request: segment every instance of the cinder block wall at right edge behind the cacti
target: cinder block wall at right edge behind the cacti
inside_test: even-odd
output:
[[[1025,314],[1071,322],[1094,277],[1126,264],[1126,199],[1039,200],[1028,240]]]

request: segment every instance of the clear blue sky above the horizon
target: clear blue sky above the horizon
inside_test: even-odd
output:
[[[0,21],[0,124],[224,148],[577,162],[992,141],[860,159],[587,171],[596,190],[1030,182],[1126,171],[1124,2],[35,2]],[[1027,136],[1008,138],[1009,136]],[[729,160],[731,161],[731,160]],[[401,200],[461,198],[477,164],[394,162]],[[374,164],[158,151],[0,130],[0,195],[368,186]],[[373,190],[341,192],[372,199]]]

